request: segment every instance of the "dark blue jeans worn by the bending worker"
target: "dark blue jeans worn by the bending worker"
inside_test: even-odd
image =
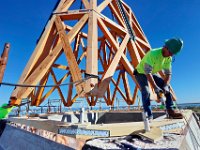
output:
[[[151,111],[151,104],[150,104],[150,91],[149,91],[149,85],[148,80],[145,74],[136,73],[135,79],[137,80],[138,84],[140,85],[140,90],[142,94],[142,103],[144,111],[147,112],[147,115],[149,118],[153,118],[153,114]],[[157,86],[159,86],[161,89],[164,87],[164,80],[159,77],[158,75],[153,75],[153,79]],[[173,109],[173,100],[171,93],[165,94],[166,96],[166,109]]]

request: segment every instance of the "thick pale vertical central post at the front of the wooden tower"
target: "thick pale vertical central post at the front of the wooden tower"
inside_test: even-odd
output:
[[[97,0],[90,2],[91,8],[96,9]],[[88,21],[88,45],[86,54],[86,73],[98,75],[98,29],[97,29],[97,15],[95,11],[89,13]],[[95,78],[89,79],[85,82],[85,91],[90,92],[91,95],[95,94],[95,89],[91,91],[98,80]],[[91,86],[92,85],[92,86]],[[96,88],[96,87],[95,87]]]

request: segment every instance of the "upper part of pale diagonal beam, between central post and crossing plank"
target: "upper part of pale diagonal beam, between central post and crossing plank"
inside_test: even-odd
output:
[[[88,20],[88,14],[85,14],[76,25],[68,32],[67,37],[69,39],[69,43],[73,41],[75,36],[79,33],[79,31],[84,27],[86,21]]]

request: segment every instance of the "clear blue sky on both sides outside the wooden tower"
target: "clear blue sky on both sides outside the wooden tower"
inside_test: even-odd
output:
[[[4,82],[17,83],[57,0],[4,0],[0,5],[0,51],[11,43]],[[181,37],[182,52],[173,63],[171,85],[178,103],[200,102],[200,1],[124,0],[135,13],[152,48]],[[13,88],[0,87],[0,104]]]

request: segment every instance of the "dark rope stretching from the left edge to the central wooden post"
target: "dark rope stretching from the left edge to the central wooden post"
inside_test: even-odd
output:
[[[67,85],[71,85],[71,84],[81,83],[90,78],[98,78],[98,76],[87,74],[87,76],[84,79],[74,81],[74,82],[63,83],[63,84],[55,84],[55,85],[30,85],[30,84],[15,84],[15,83],[8,83],[8,82],[1,82],[0,85],[14,86],[14,87],[60,87],[60,86],[67,86]]]

